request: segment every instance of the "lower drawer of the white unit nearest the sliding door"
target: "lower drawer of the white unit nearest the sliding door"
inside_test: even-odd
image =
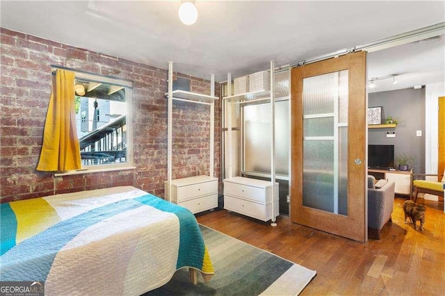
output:
[[[257,204],[247,200],[224,195],[224,208],[259,220],[272,219],[272,204]],[[275,201],[275,216],[278,215],[278,201]]]

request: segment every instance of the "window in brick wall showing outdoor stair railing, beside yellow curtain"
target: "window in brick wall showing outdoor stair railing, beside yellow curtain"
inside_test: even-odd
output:
[[[133,166],[132,83],[75,73],[76,128],[83,169]]]

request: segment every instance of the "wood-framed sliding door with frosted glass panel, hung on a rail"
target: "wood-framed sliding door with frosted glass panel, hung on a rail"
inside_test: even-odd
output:
[[[365,242],[366,53],[292,69],[291,220]]]

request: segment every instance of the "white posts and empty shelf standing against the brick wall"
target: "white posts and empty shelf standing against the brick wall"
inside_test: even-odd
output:
[[[175,101],[186,101],[193,104],[203,104],[210,106],[210,167],[209,167],[209,177],[213,179],[213,167],[214,167],[214,133],[215,133],[215,101],[219,99],[215,97],[215,76],[211,74],[211,86],[210,95],[207,94],[197,94],[194,92],[186,92],[184,90],[173,91],[173,62],[168,62],[168,92],[165,93],[168,97],[168,138],[167,138],[167,181],[166,185],[169,190],[167,192],[167,199],[169,202],[172,201],[172,114],[173,114],[173,100]],[[199,179],[199,178],[198,178]],[[198,180],[197,179],[197,180]],[[191,178],[190,180],[193,180]],[[188,185],[193,185],[190,183]],[[212,195],[214,196],[214,195]],[[217,195],[216,195],[217,196]],[[179,199],[181,197],[178,197]],[[218,198],[218,197],[217,197]],[[207,209],[207,208],[206,208]],[[203,210],[204,211],[204,210]],[[197,213],[196,208],[193,209],[194,213]]]

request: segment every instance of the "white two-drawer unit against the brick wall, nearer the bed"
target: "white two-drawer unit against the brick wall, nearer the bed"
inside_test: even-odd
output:
[[[165,197],[168,197],[168,182],[164,184]],[[194,214],[218,207],[218,178],[191,176],[172,180],[171,202]]]

